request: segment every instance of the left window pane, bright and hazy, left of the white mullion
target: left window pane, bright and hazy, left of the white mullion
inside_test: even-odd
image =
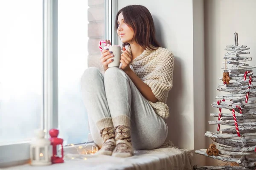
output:
[[[43,111],[43,1],[0,1],[0,144],[34,137]]]

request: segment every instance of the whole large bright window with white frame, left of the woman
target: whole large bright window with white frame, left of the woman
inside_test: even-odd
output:
[[[116,5],[0,1],[0,166],[27,161],[38,128],[58,128],[64,144],[87,142],[80,78],[87,67],[100,68],[99,40],[117,42]]]

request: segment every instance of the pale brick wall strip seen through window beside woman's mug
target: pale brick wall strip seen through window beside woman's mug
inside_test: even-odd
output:
[[[99,41],[105,40],[105,0],[88,0],[88,67],[103,71],[99,61]]]

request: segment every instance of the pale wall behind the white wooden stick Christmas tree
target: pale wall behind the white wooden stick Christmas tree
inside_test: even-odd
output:
[[[256,1],[255,0],[205,0],[205,71],[206,71],[206,122],[216,120],[209,116],[210,113],[218,113],[217,108],[212,108],[212,102],[216,102],[215,96],[221,93],[216,91],[218,77],[222,77],[222,62],[226,45],[234,45],[233,33],[238,33],[239,45],[250,47],[250,55],[253,61],[249,65],[256,65]],[[255,69],[254,69],[255,71]],[[230,113],[226,110],[224,113]],[[207,123],[206,130],[215,132],[217,125]],[[207,138],[207,146],[212,142]],[[217,165],[219,161],[207,158],[208,165]]]

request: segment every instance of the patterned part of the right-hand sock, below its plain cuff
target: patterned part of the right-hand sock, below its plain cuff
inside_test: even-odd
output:
[[[129,157],[133,156],[133,147],[131,145],[131,128],[126,125],[115,127],[116,147],[113,150],[112,156]]]

